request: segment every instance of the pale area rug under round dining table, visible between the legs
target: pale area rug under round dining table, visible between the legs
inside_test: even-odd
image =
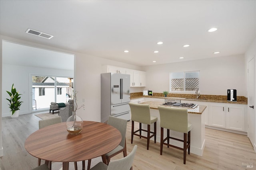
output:
[[[99,162],[102,162],[102,158],[97,157],[97,158],[93,158],[92,162],[91,162],[91,167],[95,166],[96,164],[98,164]],[[88,165],[88,160],[85,161],[85,169],[87,170],[87,165]],[[82,161],[77,162],[77,169],[81,170],[82,169]],[[52,170],[62,170],[62,162],[53,162],[52,163]],[[70,162],[69,163],[69,170],[75,170],[74,168],[74,162]]]

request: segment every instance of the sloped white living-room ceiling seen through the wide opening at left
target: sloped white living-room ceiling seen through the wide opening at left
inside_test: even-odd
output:
[[[74,55],[3,41],[4,64],[74,70]]]

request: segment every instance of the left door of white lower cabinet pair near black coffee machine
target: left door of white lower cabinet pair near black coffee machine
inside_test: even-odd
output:
[[[210,106],[210,126],[226,128],[225,105]]]

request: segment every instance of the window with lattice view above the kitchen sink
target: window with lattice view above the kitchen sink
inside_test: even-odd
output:
[[[199,71],[171,72],[170,92],[195,92],[199,91]]]

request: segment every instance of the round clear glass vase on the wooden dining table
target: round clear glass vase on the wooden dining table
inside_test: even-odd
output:
[[[73,114],[72,116],[68,117],[66,121],[66,128],[68,133],[77,135],[79,134],[83,129],[83,120],[81,117],[79,117],[76,114]]]

